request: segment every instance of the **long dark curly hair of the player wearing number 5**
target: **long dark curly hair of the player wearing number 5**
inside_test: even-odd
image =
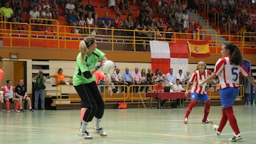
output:
[[[230,57],[231,62],[234,65],[241,65],[242,64],[242,54],[238,48],[238,46],[233,45],[232,43],[225,44],[225,48],[230,50]]]

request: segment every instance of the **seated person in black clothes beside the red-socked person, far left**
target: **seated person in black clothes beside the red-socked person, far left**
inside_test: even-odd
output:
[[[29,111],[33,112],[31,98],[28,96],[26,92],[26,87],[24,86],[23,79],[18,79],[18,85],[15,87],[15,96],[17,99],[20,99],[20,111],[23,112],[22,109],[22,101],[28,103]]]

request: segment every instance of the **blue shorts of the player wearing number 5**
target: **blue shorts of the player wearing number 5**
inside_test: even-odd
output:
[[[235,99],[238,97],[238,88],[227,87],[220,89],[220,101],[223,109],[233,107]]]

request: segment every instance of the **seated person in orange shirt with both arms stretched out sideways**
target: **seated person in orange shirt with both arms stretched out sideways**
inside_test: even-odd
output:
[[[72,84],[72,78],[73,77],[72,76],[67,76],[67,75],[63,74],[63,70],[61,68],[58,70],[57,74],[50,75],[50,76],[48,76],[46,78],[50,78],[50,77],[55,77],[57,84],[66,84],[66,85]],[[68,80],[68,82],[66,82],[65,81],[65,77],[70,78],[70,80]]]

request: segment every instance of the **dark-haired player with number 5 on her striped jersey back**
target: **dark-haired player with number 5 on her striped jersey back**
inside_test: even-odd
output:
[[[220,101],[222,104],[223,116],[220,120],[219,126],[214,125],[213,129],[215,130],[216,135],[220,136],[225,124],[229,121],[230,126],[235,133],[235,135],[229,140],[234,142],[242,140],[242,135],[239,131],[238,123],[233,113],[233,104],[239,92],[239,75],[246,77],[254,87],[256,87],[256,84],[254,79],[250,77],[245,66],[242,65],[242,55],[236,45],[231,43],[223,45],[221,55],[223,57],[216,62],[214,72],[199,85],[203,86],[203,84],[210,82],[210,80],[214,79],[218,75],[220,80]]]

